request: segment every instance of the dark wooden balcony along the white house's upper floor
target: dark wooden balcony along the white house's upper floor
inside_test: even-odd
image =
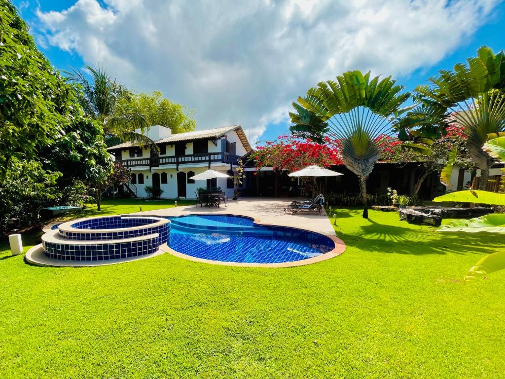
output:
[[[151,157],[151,158],[136,158],[136,159],[124,159],[120,160],[125,167],[141,167],[146,166],[151,169],[152,167],[160,167],[164,165],[175,165],[177,171],[179,170],[179,165],[193,164],[193,163],[207,163],[209,168],[211,168],[212,163],[226,163],[230,165],[237,165],[237,161],[240,159],[239,155],[233,155],[230,153],[199,153],[199,154],[189,154],[189,155],[177,155],[171,157]]]

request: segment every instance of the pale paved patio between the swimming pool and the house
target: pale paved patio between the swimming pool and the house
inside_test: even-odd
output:
[[[159,216],[181,216],[188,214],[234,214],[259,219],[262,224],[292,226],[317,231],[326,235],[336,235],[326,212],[321,216],[317,212],[300,211],[296,214],[284,214],[284,208],[293,198],[243,198],[230,200],[227,207],[200,207],[195,205],[176,208],[158,209],[156,211],[137,212]]]

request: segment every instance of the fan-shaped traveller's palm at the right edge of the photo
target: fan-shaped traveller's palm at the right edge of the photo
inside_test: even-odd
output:
[[[489,134],[505,131],[505,55],[503,51],[495,55],[482,46],[477,57],[467,61],[468,65],[442,70],[428,79],[430,84],[418,86],[415,98],[420,105],[407,114],[402,124],[425,131],[430,127],[441,131],[451,123],[462,126],[469,155],[481,170],[479,188],[485,189],[494,161],[482,147]],[[451,171],[448,166],[441,179],[450,179],[447,173]]]

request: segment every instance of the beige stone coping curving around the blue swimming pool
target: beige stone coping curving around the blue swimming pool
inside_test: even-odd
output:
[[[184,215],[184,216],[190,216],[191,214]],[[198,216],[206,216],[206,215],[211,215],[211,216],[216,216],[216,214],[212,213],[198,213]],[[232,267],[264,267],[264,268],[279,268],[279,267],[296,267],[296,266],[305,266],[308,264],[312,263],[317,263],[317,262],[322,262],[327,259],[334,258],[340,254],[342,254],[345,249],[347,248],[345,243],[340,240],[336,235],[331,235],[331,234],[326,234],[326,233],[321,233],[320,231],[313,230],[313,229],[307,229],[307,228],[299,228],[295,226],[284,226],[284,225],[278,225],[278,224],[271,224],[271,223],[263,223],[258,217],[247,215],[247,214],[242,214],[242,215],[237,215],[233,213],[226,213],[226,216],[238,216],[238,217],[246,217],[252,219],[252,222],[258,225],[263,225],[263,226],[276,226],[276,227],[285,227],[285,228],[292,228],[292,229],[298,229],[298,230],[304,230],[304,231],[310,231],[313,233],[318,233],[321,235],[324,235],[328,237],[330,240],[333,241],[335,244],[335,248],[333,250],[330,250],[329,252],[326,252],[324,254],[318,255],[317,257],[312,257],[312,258],[307,258],[307,259],[301,259],[298,261],[292,261],[292,262],[280,262],[280,263],[248,263],[248,262],[226,262],[226,261],[215,261],[212,259],[204,259],[204,258],[197,258],[193,257],[191,255],[183,254],[180,253],[172,248],[170,248],[168,245],[164,245],[162,250],[164,250],[166,253],[169,253],[175,257],[186,259],[189,261],[193,262],[199,262],[199,263],[209,263],[209,264],[214,264],[214,265],[220,265],[220,266],[232,266]],[[166,216],[170,217],[170,216]],[[178,216],[174,216],[178,217]]]

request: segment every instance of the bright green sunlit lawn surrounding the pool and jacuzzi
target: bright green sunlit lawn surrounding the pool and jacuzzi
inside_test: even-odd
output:
[[[128,200],[102,213],[137,210]],[[337,214],[346,252],[284,269],[169,254],[44,268],[4,244],[0,377],[505,376],[505,270],[462,280],[504,236]]]

